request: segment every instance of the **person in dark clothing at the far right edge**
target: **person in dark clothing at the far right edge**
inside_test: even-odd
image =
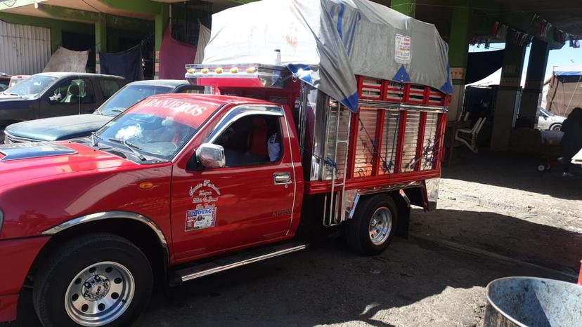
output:
[[[570,167],[572,157],[582,149],[582,108],[574,108],[568,118],[562,123],[562,162],[564,176],[571,176]]]

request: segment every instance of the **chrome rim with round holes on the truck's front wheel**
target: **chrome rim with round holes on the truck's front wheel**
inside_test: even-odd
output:
[[[98,262],[82,269],[69,283],[65,310],[81,326],[103,326],[127,310],[135,288],[134,276],[124,265]]]

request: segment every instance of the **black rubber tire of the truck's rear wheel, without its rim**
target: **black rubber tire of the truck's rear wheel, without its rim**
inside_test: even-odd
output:
[[[387,208],[392,215],[392,228],[387,233],[387,238],[380,244],[373,243],[370,238],[370,222],[373,215],[380,208]],[[377,255],[389,246],[396,234],[398,226],[398,211],[394,200],[386,195],[379,194],[361,199],[356,207],[354,218],[346,223],[346,239],[351,248],[364,255]]]

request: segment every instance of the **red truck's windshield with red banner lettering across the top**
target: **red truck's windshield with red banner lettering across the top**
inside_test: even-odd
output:
[[[131,147],[143,156],[170,160],[214,109],[216,105],[211,110],[205,102],[147,98],[105,124],[96,136],[101,139],[100,145],[105,143],[125,152]]]

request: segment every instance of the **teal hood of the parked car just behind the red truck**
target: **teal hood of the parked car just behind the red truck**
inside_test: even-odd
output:
[[[101,114],[60,116],[23,121],[6,128],[6,133],[17,138],[39,141],[68,140],[91,135],[113,119]]]

